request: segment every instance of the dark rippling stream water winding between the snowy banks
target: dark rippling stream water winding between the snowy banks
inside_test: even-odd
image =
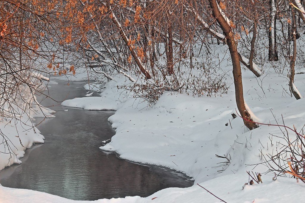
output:
[[[67,82],[57,82],[59,85],[50,84],[48,88],[56,101],[84,97],[87,92],[76,88],[83,87],[81,82],[69,86],[65,85]],[[167,187],[193,185],[185,176],[171,170],[131,163],[99,150],[101,142],[115,134],[107,120],[114,111],[86,111],[58,104],[49,98],[42,102],[57,111],[56,118],[45,119],[38,126],[45,136],[45,144],[33,145],[21,159],[22,164],[0,171],[3,186],[74,200],[97,200],[146,197]]]

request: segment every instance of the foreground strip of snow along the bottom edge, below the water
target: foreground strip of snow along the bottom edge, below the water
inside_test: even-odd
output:
[[[242,189],[245,182],[248,182],[246,175],[226,175],[206,181],[200,185],[215,194],[226,202],[255,203],[255,202],[298,202],[305,198],[305,186],[296,183],[294,179],[279,177],[273,181],[272,176],[262,176],[263,184],[247,185]],[[288,189],[289,188],[289,189]],[[300,195],[291,195],[300,194]],[[18,195],[16,195],[18,194]],[[10,202],[89,202],[74,201],[56,195],[26,189],[14,189],[0,186],[0,197],[2,203]],[[198,185],[188,188],[167,188],[150,195],[147,198],[125,197],[112,199],[99,199],[96,203],[146,203],[146,202],[221,202]]]

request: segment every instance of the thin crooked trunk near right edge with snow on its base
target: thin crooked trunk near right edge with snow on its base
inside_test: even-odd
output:
[[[296,15],[294,13],[294,8],[291,6],[291,15],[292,15],[292,26],[291,26],[291,36],[293,37],[293,53],[290,60],[290,76],[289,76],[289,88],[291,93],[296,99],[300,99],[302,96],[300,92],[297,90],[296,86],[294,85],[294,65],[296,62]]]

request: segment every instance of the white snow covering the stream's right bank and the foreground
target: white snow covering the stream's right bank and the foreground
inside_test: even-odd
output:
[[[305,74],[297,74],[296,87],[305,95]],[[262,81],[261,81],[262,80]],[[305,198],[303,183],[295,179],[273,174],[262,176],[263,183],[242,186],[249,181],[246,171],[264,173],[262,155],[272,154],[278,147],[282,132],[279,127],[260,126],[248,131],[242,119],[232,118],[236,113],[234,88],[221,97],[194,98],[187,94],[166,92],[156,105],[147,108],[145,102],[132,98],[126,90],[118,90],[117,84],[125,84],[124,78],[116,78],[102,89],[101,97],[84,97],[66,100],[64,106],[87,110],[117,110],[109,118],[116,128],[109,144],[102,150],[113,151],[134,162],[161,165],[181,171],[195,180],[189,188],[167,188],[147,198],[126,197],[101,199],[96,202],[220,202],[213,195],[196,185],[199,183],[217,197],[227,202],[290,202]],[[249,71],[243,72],[244,97],[261,123],[296,126],[304,125],[304,99],[295,100],[289,93],[287,79],[272,71],[255,78]],[[99,87],[89,90],[100,91]],[[281,116],[282,115],[282,116]],[[277,137],[276,137],[277,136]],[[224,158],[215,155],[227,156]],[[222,172],[222,173],[221,173]],[[24,189],[0,187],[3,202],[74,202],[51,194]]]

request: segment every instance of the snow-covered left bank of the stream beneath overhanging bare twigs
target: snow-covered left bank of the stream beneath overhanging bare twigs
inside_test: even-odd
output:
[[[35,90],[43,88],[41,80],[49,80],[40,73],[33,73],[28,83],[34,88],[24,84],[20,93],[16,91],[9,100],[2,99],[1,105],[4,109],[0,116],[0,170],[14,163],[21,163],[19,158],[23,157],[24,151],[30,148],[33,143],[44,143],[44,137],[34,127],[34,118],[55,117],[54,111],[39,105]],[[39,83],[37,83],[39,81]],[[8,91],[2,89],[4,94]],[[2,93],[3,93],[2,92]],[[3,94],[2,94],[3,96]],[[2,98],[5,98],[4,96]]]

